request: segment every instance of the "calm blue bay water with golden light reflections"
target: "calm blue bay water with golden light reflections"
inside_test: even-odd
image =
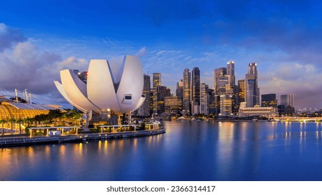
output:
[[[321,123],[169,122],[153,137],[0,149],[0,180],[322,180]]]

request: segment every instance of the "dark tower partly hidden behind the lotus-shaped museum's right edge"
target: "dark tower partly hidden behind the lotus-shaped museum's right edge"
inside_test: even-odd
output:
[[[144,75],[143,95],[146,97],[143,104],[137,110],[139,116],[150,116],[151,110],[151,81],[150,76]]]

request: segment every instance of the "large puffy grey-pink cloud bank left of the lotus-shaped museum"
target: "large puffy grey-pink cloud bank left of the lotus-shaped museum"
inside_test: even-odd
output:
[[[88,61],[75,56],[63,59],[60,54],[38,49],[32,40],[18,40],[11,41],[15,44],[0,54],[1,86],[12,94],[15,88],[18,91],[27,89],[35,102],[36,99],[47,104],[63,102],[53,83],[59,80],[59,71],[66,68],[87,70]]]

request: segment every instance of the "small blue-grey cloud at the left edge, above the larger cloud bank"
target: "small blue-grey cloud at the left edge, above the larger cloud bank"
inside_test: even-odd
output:
[[[6,24],[0,23],[0,52],[5,49],[13,47],[15,43],[26,40],[18,29],[6,26]]]

